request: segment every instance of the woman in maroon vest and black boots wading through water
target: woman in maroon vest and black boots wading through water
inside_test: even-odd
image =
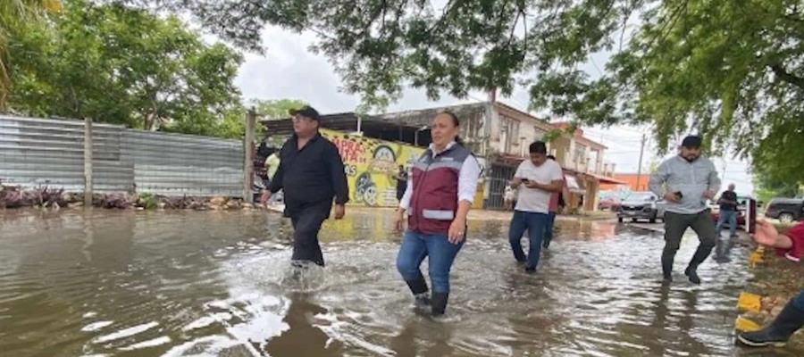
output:
[[[396,226],[408,228],[397,257],[397,269],[419,306],[431,305],[433,316],[444,314],[449,296],[449,270],[466,234],[466,214],[472,206],[480,167],[461,145],[460,122],[452,112],[432,120],[432,144],[413,167],[399,203]],[[432,295],[419,266],[430,265]]]

